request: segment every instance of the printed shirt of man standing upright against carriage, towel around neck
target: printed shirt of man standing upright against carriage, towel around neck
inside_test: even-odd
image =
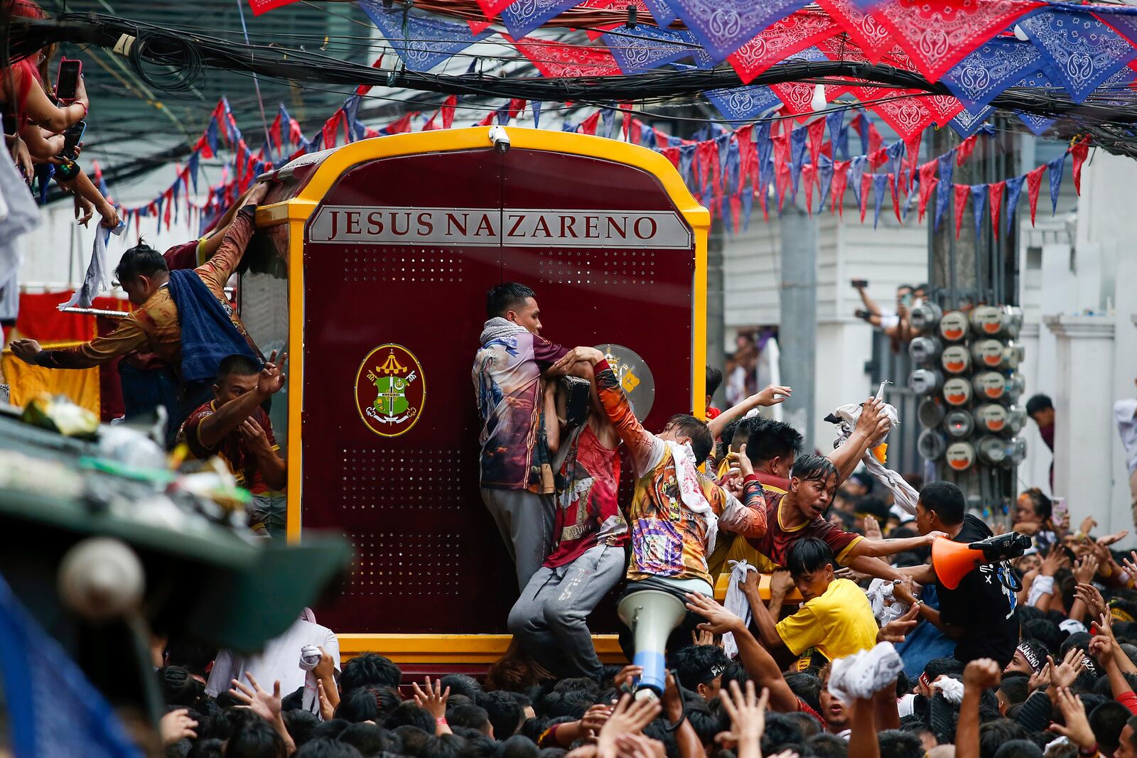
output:
[[[472,372],[483,424],[479,458],[482,486],[547,491],[541,466],[548,466],[549,456],[539,435],[541,372],[566,352],[521,327],[482,340]],[[549,485],[551,490],[551,481]]]

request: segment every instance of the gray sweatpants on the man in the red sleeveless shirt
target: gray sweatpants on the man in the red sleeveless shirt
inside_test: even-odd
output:
[[[598,544],[556,568],[541,566],[509,611],[509,632],[561,677],[604,673],[586,619],[624,573],[624,549]]]

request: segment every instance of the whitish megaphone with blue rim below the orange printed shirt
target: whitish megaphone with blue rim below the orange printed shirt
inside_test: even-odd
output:
[[[639,590],[625,594],[616,606],[620,620],[632,631],[636,653],[632,665],[639,666],[636,699],[663,697],[667,685],[667,663],[664,650],[672,630],[687,615],[687,606],[677,595],[663,590]]]

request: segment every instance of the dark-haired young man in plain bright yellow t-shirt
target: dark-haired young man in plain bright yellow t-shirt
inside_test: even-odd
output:
[[[798,540],[789,550],[787,568],[805,600],[802,609],[775,623],[764,603],[752,603],[762,642],[775,657],[779,649],[798,656],[816,648],[836,660],[877,644],[872,606],[856,584],[833,577],[836,563],[822,540]]]

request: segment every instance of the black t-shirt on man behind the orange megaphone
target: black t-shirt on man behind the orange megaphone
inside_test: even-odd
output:
[[[955,542],[978,542],[991,536],[991,530],[971,514],[963,517],[963,528]],[[945,624],[961,626],[966,634],[955,644],[955,657],[964,664],[976,658],[993,658],[1003,668],[1014,657],[1019,644],[1019,619],[1014,615],[1015,594],[1003,585],[1014,568],[1006,561],[979,566],[954,590],[940,584],[939,614]]]

